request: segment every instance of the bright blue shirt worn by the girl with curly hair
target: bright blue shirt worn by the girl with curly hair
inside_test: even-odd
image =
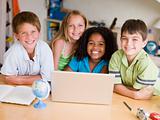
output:
[[[93,69],[93,73],[100,73],[104,66],[108,66],[108,62],[105,60],[101,60]],[[84,59],[78,61],[77,57],[73,57],[69,62],[69,67],[74,72],[91,72],[89,67],[89,59],[85,57]]]

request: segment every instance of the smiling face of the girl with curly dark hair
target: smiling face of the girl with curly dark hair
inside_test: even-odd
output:
[[[87,53],[94,62],[99,62],[105,53],[105,41],[101,34],[93,33],[88,40]]]

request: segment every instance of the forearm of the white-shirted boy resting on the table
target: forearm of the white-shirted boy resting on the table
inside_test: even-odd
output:
[[[8,84],[31,85],[33,81],[39,79],[42,79],[41,75],[30,75],[30,76],[4,75],[4,80]]]

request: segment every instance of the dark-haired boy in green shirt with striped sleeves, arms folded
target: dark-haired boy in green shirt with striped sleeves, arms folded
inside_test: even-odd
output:
[[[143,50],[146,44],[146,24],[139,19],[127,20],[121,28],[122,49],[112,55],[109,63],[109,73],[116,76],[114,92],[133,99],[150,99],[159,89],[154,87],[158,68]]]

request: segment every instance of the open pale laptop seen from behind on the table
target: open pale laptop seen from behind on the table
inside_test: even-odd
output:
[[[113,79],[110,74],[54,71],[52,101],[111,104]]]

